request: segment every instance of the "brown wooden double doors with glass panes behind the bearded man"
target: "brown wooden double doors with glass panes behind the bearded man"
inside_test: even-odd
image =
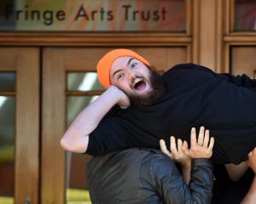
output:
[[[96,63],[113,48],[0,48],[0,197],[15,203],[89,201],[90,156],[61,149],[74,117],[104,91]],[[164,72],[188,46],[131,48]]]

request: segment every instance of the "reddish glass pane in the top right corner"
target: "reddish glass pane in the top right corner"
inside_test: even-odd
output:
[[[235,31],[256,31],[255,1],[235,1]]]

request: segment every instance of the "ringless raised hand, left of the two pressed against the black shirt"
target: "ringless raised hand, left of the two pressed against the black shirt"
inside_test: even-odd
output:
[[[188,150],[188,143],[186,141],[182,141],[181,139],[177,139],[177,144],[175,138],[172,136],[170,138],[170,150],[166,148],[166,142],[164,139],[160,139],[160,149],[161,151],[169,156],[173,161],[180,164],[182,167],[190,165],[191,159],[187,156],[184,150]]]

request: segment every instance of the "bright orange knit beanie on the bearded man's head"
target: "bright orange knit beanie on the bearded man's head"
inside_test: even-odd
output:
[[[148,61],[144,59],[139,54],[133,52],[131,49],[113,49],[112,51],[105,54],[102,59],[99,60],[97,64],[97,73],[99,81],[102,83],[104,88],[108,88],[110,86],[110,68],[113,64],[113,61],[119,57],[134,57],[145,65],[150,66]]]

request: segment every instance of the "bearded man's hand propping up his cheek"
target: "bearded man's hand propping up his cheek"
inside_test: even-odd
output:
[[[121,108],[127,108],[130,106],[130,99],[127,96],[127,94],[125,94],[125,92],[123,92],[121,89],[119,89],[118,87],[111,85],[108,88],[108,92],[111,92],[114,94],[114,96],[117,99],[117,104],[121,107]]]

